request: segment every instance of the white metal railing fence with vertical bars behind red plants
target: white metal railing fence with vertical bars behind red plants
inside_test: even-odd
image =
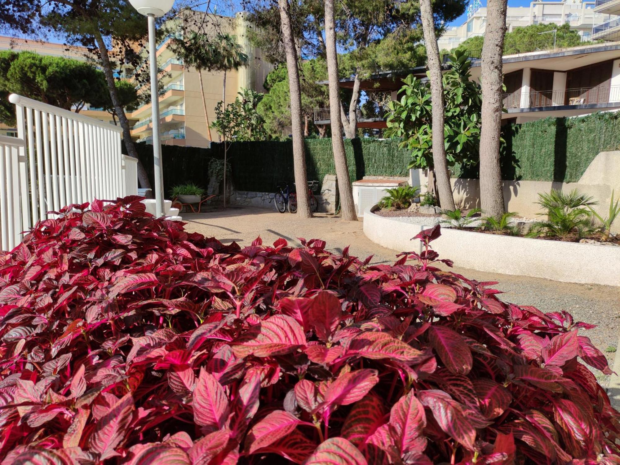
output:
[[[71,203],[137,194],[136,160],[121,153],[121,128],[11,94],[17,138],[0,137],[2,250]]]

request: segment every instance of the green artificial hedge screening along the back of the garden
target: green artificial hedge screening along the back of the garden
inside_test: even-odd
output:
[[[602,151],[620,148],[620,114],[593,113],[580,118],[546,118],[506,125],[502,137],[503,179],[577,182]],[[407,176],[409,151],[396,139],[347,139],[345,151],[352,181],[371,175]],[[153,182],[153,148],[136,144],[139,158]],[[224,145],[211,148],[162,146],[164,189],[193,182],[206,188],[209,160],[223,159]],[[293,182],[293,145],[288,141],[236,142],[228,159],[237,190],[273,192],[278,181]],[[308,179],[322,183],[335,174],[331,139],[306,139]],[[453,177],[477,177],[477,166],[454,166]]]

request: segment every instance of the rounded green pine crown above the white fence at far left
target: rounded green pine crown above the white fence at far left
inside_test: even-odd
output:
[[[102,107],[109,100],[103,73],[92,64],[30,51],[0,51],[0,92],[66,110],[73,106],[80,110],[86,104]],[[14,117],[14,109],[4,107],[2,121],[12,125]]]

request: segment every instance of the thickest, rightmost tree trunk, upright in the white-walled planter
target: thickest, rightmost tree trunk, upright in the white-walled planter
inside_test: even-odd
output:
[[[500,169],[502,129],[502,52],[507,0],[487,2],[487,29],[482,43],[482,122],[480,127],[480,206],[487,216],[505,211]]]

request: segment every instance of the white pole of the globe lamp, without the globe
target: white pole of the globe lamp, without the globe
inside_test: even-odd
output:
[[[157,85],[157,49],[155,44],[155,15],[148,14],[149,66],[151,68],[151,121],[153,123],[153,164],[155,175],[155,213],[164,215],[164,175],[161,166],[161,141],[159,140],[159,89]]]

